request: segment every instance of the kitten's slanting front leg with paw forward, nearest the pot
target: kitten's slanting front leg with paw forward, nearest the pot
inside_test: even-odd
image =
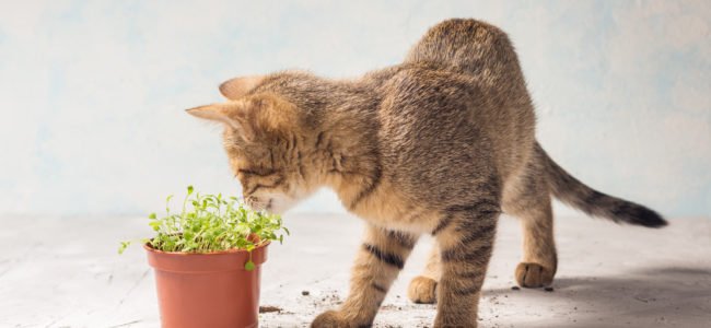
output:
[[[338,311],[314,319],[313,328],[370,327],[417,236],[369,225],[351,271],[350,293]]]

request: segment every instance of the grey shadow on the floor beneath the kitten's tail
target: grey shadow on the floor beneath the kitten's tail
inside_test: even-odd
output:
[[[497,302],[509,300],[499,315],[514,327],[711,327],[711,268],[657,267],[617,277],[561,277],[553,286],[553,292],[492,289],[483,295]],[[498,311],[497,302],[492,313]],[[546,308],[545,314],[536,308]]]

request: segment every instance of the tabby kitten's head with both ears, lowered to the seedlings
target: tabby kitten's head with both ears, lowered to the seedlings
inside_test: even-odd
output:
[[[316,189],[314,167],[304,165],[313,151],[300,110],[273,93],[252,93],[259,77],[230,80],[220,86],[229,99],[188,109],[224,126],[223,145],[242,185],[244,200],[257,210],[282,213]]]

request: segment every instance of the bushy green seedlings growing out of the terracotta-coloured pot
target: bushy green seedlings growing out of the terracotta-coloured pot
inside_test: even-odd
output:
[[[245,270],[254,270],[252,250],[269,241],[283,242],[289,230],[282,226],[281,216],[264,211],[253,211],[236,197],[223,198],[221,194],[200,195],[188,186],[179,213],[171,212],[171,200],[165,200],[165,215],[151,213],[149,225],[155,232],[143,239],[162,251],[213,253],[230,249],[249,251]],[[255,238],[255,236],[257,238]],[[132,242],[120,242],[118,254]]]

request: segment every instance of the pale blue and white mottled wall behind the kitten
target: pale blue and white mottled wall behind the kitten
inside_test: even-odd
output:
[[[0,213],[144,213],[238,191],[219,128],[184,108],[285,68],[352,77],[436,22],[515,43],[541,143],[604,191],[711,215],[710,1],[3,1]],[[301,211],[340,211],[320,194]]]

